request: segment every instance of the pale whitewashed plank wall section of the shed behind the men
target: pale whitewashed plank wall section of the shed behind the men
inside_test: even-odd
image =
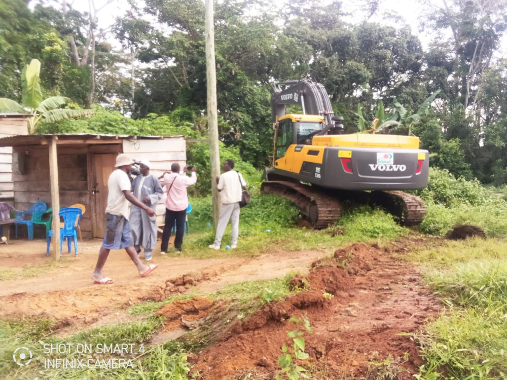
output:
[[[150,172],[161,176],[165,171],[171,170],[171,164],[178,163],[185,166],[187,162],[187,144],[184,137],[171,137],[163,140],[123,140],[123,153],[127,153],[134,160],[149,160],[152,163]],[[165,195],[157,204],[157,223],[164,224]]]

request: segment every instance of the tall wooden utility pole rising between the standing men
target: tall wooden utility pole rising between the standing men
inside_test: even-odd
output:
[[[216,111],[216,70],[215,70],[215,32],[213,25],[213,0],[205,0],[206,33],[206,84],[208,89],[208,132],[209,159],[211,164],[211,193],[213,195],[213,223],[219,221],[220,199],[216,188],[216,177],[220,175],[219,123]]]

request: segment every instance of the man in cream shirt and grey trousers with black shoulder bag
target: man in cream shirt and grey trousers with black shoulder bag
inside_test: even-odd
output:
[[[216,226],[215,241],[209,246],[211,249],[220,249],[229,219],[232,224],[231,248],[236,248],[238,245],[239,202],[241,202],[243,189],[246,189],[246,182],[241,173],[233,170],[233,160],[225,160],[223,169],[224,173],[220,177],[216,177],[222,207],[220,208],[219,223]]]

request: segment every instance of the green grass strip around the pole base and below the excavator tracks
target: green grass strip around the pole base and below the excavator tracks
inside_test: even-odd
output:
[[[191,235],[185,237],[184,251],[169,250],[166,256],[254,257],[279,250],[335,250],[345,244],[382,243],[410,233],[383,210],[351,203],[345,204],[343,217],[335,226],[320,231],[299,229],[295,227],[298,210],[289,201],[262,194],[252,195],[251,199],[251,203],[241,209],[237,249],[225,248],[230,244],[230,226],[224,234],[222,248],[218,251],[208,248],[214,240],[211,198],[208,197],[191,200],[195,211],[189,214]],[[336,229],[343,229],[343,234],[331,237]]]

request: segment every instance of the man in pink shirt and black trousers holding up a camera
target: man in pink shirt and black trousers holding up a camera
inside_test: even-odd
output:
[[[179,164],[171,165],[171,173],[164,175],[164,185],[167,189],[167,200],[165,201],[165,225],[162,234],[162,244],[160,253],[165,254],[169,245],[171,231],[176,221],[176,237],[174,238],[174,248],[182,250],[183,235],[185,234],[185,219],[187,218],[187,208],[189,206],[189,197],[187,187],[197,182],[195,174],[196,167],[192,168],[192,175],[185,175],[188,166],[185,166],[182,172],[179,171]]]

